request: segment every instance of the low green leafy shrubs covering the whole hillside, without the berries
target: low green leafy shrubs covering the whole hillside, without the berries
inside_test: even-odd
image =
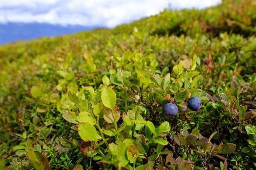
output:
[[[223,0],[0,46],[0,170],[255,170],[255,35]]]

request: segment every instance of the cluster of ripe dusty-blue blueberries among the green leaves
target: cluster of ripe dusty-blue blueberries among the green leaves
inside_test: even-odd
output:
[[[191,97],[188,102],[188,106],[185,106],[183,108],[180,108],[180,112],[185,112],[187,110],[187,107],[189,107],[190,110],[192,111],[198,111],[201,106],[201,99],[198,97]],[[163,106],[163,111],[165,114],[168,115],[177,115],[178,113],[178,107],[174,103],[166,103]]]

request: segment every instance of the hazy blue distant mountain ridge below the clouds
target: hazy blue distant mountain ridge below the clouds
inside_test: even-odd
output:
[[[39,37],[53,37],[91,30],[95,27],[61,26],[49,23],[0,23],[0,44]]]

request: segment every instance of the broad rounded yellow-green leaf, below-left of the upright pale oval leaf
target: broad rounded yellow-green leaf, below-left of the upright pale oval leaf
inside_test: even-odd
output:
[[[79,136],[81,139],[83,139],[85,142],[87,140],[89,141],[97,141],[97,131],[93,125],[90,123],[81,123],[78,125],[79,130]]]

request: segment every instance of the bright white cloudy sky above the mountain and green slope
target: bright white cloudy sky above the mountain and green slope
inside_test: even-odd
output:
[[[205,8],[221,0],[0,0],[0,23],[114,27],[163,11]]]

